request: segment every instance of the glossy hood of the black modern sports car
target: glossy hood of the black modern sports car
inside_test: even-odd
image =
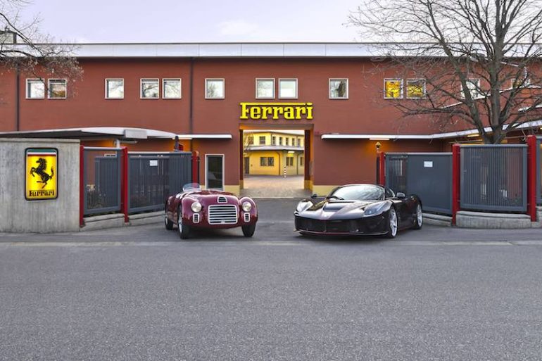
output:
[[[312,201],[312,200],[305,200]],[[337,199],[326,199],[324,201],[313,203],[309,208],[299,212],[300,217],[334,220],[334,219],[349,219],[363,215],[363,210],[367,205],[379,203],[382,201],[343,201]]]

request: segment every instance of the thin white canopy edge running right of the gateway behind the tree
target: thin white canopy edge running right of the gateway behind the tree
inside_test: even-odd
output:
[[[534,120],[532,122],[524,122],[518,125],[515,129],[526,129],[531,127],[541,127],[542,120]],[[505,125],[506,129],[508,125]],[[485,127],[485,132],[491,132],[491,127]],[[435,133],[435,134],[322,134],[322,139],[372,139],[372,140],[397,140],[397,139],[448,139],[468,137],[472,134],[478,134],[477,129],[462,130],[460,132],[447,132],[447,133]]]

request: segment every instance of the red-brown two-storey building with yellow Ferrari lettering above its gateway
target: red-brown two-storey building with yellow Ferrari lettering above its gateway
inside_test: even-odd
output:
[[[139,151],[172,150],[177,135],[200,153],[202,184],[222,160],[222,187],[239,191],[244,129],[302,129],[305,187],[317,193],[374,182],[377,141],[386,152],[449,151],[476,133],[401,118],[384,91],[396,75],[363,44],[82,44],[75,56],[75,82],[0,74],[0,132]]]

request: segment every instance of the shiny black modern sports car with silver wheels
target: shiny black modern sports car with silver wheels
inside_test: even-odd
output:
[[[385,235],[393,238],[399,229],[422,228],[422,202],[415,194],[394,194],[373,184],[347,184],[329,196],[299,202],[296,231],[301,234],[334,236]]]

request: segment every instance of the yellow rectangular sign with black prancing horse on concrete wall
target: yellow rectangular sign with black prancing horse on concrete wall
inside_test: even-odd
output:
[[[56,156],[53,148],[26,150],[26,190],[28,201],[55,199],[57,194]]]

